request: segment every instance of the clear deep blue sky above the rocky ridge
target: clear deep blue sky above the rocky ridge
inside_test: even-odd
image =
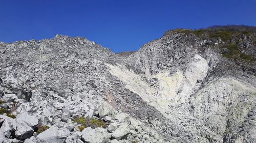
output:
[[[82,36],[115,52],[138,50],[173,28],[256,25],[255,0],[1,0],[0,41]]]

